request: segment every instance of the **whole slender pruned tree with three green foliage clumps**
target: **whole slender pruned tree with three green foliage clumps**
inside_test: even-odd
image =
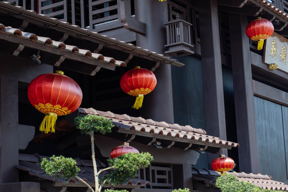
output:
[[[84,183],[92,192],[100,192],[105,183],[112,185],[123,185],[128,180],[136,176],[139,167],[148,167],[153,157],[150,153],[126,153],[119,157],[108,160],[110,167],[97,171],[95,148],[94,148],[94,132],[106,134],[111,132],[113,124],[110,119],[105,119],[103,116],[86,115],[75,117],[76,128],[82,134],[89,135],[91,138],[92,161],[95,177],[95,190],[83,179],[77,176],[80,169],[76,166],[76,161],[71,157],[56,157],[53,155],[50,160],[43,158],[41,161],[41,168],[46,171],[48,175],[59,177],[62,174],[63,178],[68,181],[71,177],[77,178]],[[108,169],[115,169],[106,174],[102,180],[99,180],[99,174]],[[105,190],[105,192],[113,192],[113,190]],[[126,192],[122,190],[120,192]]]

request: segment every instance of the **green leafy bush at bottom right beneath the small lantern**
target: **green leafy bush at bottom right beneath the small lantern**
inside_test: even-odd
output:
[[[221,175],[216,179],[215,186],[222,192],[277,192],[275,190],[262,189],[247,181],[239,181],[236,176],[231,174]]]

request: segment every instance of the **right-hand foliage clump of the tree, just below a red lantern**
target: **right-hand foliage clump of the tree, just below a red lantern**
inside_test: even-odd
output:
[[[136,176],[139,167],[148,167],[153,157],[150,153],[125,153],[108,162],[115,170],[103,177],[108,178],[107,183],[123,185]]]

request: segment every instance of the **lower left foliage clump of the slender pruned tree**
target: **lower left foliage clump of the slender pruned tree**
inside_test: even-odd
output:
[[[76,166],[76,161],[71,157],[63,157],[62,155],[56,157],[53,155],[50,160],[43,158],[41,161],[41,168],[50,176],[58,178],[59,174],[62,174],[65,181],[69,181],[71,177],[77,176],[77,172],[80,171]]]

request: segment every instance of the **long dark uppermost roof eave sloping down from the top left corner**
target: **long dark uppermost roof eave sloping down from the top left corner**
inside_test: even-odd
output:
[[[56,18],[48,18],[46,15],[37,14],[33,10],[25,10],[23,7],[11,5],[9,2],[0,1],[0,12],[12,15],[14,17],[24,18],[29,22],[41,22],[41,25],[53,26],[54,30],[65,31],[66,33],[77,36],[78,38],[91,42],[101,43],[105,47],[131,53],[137,57],[160,62],[163,64],[171,64],[179,67],[184,66],[183,63],[178,62],[176,59],[166,57],[162,54],[157,54],[156,52],[152,52],[141,47],[136,47],[133,44],[125,43],[124,41],[118,41],[117,39],[109,38],[106,35],[100,35],[97,32],[92,32],[88,29],[80,28],[77,25],[70,25],[67,22],[58,21]]]

